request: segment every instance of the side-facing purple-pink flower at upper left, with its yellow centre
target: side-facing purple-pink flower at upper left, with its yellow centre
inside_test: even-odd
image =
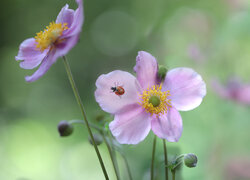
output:
[[[82,0],[76,0],[78,8],[68,9],[66,4],[57,16],[56,22],[51,22],[44,31],[37,33],[35,38],[23,41],[19,47],[16,60],[23,69],[33,69],[40,65],[31,76],[26,76],[27,82],[33,82],[42,77],[59,57],[66,55],[77,43],[83,24]]]

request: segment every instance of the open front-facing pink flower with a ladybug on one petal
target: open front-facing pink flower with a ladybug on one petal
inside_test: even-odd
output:
[[[140,51],[134,70],[137,77],[125,71],[112,71],[101,75],[95,91],[101,108],[114,114],[109,124],[112,134],[121,144],[137,144],[150,129],[170,142],[182,134],[180,111],[196,108],[206,95],[206,84],[190,68],[168,71],[160,83],[156,59]]]

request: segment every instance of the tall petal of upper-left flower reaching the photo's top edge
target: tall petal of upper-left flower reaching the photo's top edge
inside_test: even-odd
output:
[[[76,0],[78,8],[74,12],[73,21],[68,30],[65,31],[64,37],[70,37],[74,35],[79,35],[82,30],[83,25],[83,3],[82,0]]]

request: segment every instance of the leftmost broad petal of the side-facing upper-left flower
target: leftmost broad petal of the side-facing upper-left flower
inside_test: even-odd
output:
[[[20,67],[23,69],[33,69],[37,67],[48,53],[48,49],[41,52],[36,48],[36,41],[34,38],[26,39],[19,47],[16,60],[20,61]]]

